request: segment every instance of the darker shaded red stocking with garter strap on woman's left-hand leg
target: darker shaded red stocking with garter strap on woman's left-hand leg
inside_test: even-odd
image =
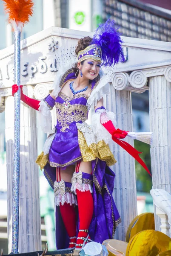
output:
[[[57,181],[59,182],[60,178],[60,168],[57,168]],[[75,247],[77,241],[77,214],[75,211],[74,204],[70,205],[64,203],[63,205],[60,203],[60,213],[63,219],[63,223],[66,227],[66,231],[70,238],[69,248]]]

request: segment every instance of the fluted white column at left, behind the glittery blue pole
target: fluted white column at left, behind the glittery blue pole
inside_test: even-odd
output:
[[[8,243],[12,244],[12,173],[14,143],[14,98],[5,102],[6,155],[8,180]],[[19,253],[41,249],[39,169],[37,157],[37,127],[35,110],[21,104],[20,134],[20,216]]]

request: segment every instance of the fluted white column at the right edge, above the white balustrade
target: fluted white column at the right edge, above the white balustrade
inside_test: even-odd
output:
[[[153,189],[171,193],[171,82],[165,76],[149,78],[151,169]],[[155,214],[155,229],[160,231],[160,219]]]

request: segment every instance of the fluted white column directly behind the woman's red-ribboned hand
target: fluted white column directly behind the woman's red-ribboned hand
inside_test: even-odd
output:
[[[115,90],[111,86],[111,92],[106,98],[106,107],[108,111],[116,113],[118,128],[132,131],[131,92]],[[125,140],[133,145],[130,138]],[[117,160],[111,168],[116,174],[113,197],[122,219],[115,238],[125,241],[128,226],[137,215],[135,164],[134,158],[119,145],[113,143],[111,148]]]

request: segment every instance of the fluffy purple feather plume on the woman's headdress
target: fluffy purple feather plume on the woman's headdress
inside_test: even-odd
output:
[[[108,19],[96,29],[91,44],[97,44],[102,49],[102,65],[111,66],[119,61],[124,62],[125,58],[122,49],[122,39],[117,31],[119,26],[114,20]]]

